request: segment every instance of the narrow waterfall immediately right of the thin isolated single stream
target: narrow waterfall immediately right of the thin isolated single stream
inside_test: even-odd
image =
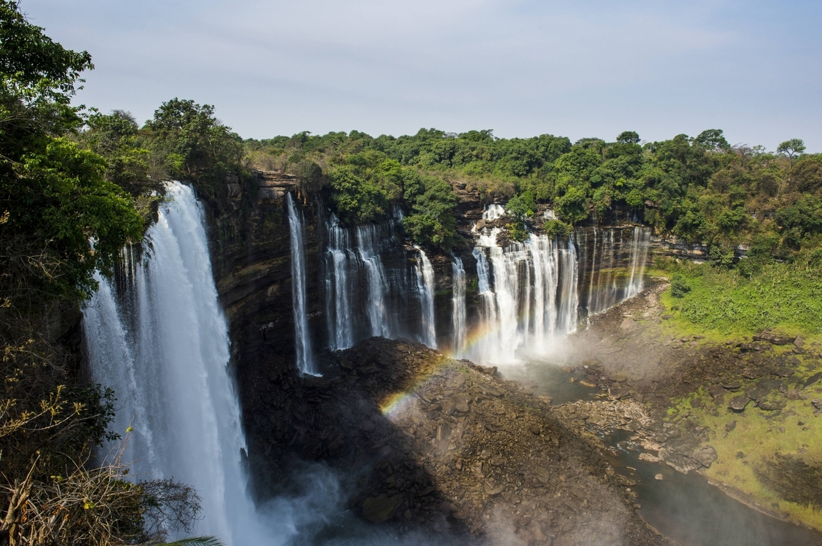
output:
[[[326,250],[326,322],[329,345],[332,350],[345,349],[354,344],[351,314],[348,251],[351,237],[348,230],[340,227],[334,214],[330,216],[328,250]]]

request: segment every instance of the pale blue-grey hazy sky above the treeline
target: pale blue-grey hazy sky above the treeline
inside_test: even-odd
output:
[[[492,129],[822,151],[818,0],[23,0],[91,53],[77,103],[178,97],[243,137]]]

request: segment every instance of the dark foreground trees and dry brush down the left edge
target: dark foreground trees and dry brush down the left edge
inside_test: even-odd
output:
[[[78,381],[76,356],[50,328],[144,221],[77,138],[85,119],[71,100],[89,54],[48,39],[10,0],[0,44],[0,544],[156,541],[191,523],[196,493],[127,480],[117,454],[90,464],[95,445],[117,438],[114,395]]]

